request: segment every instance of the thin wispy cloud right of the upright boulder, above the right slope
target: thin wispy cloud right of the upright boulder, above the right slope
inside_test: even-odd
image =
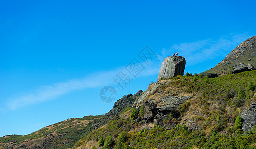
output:
[[[241,42],[251,37],[245,34],[230,34],[221,36],[218,39],[205,39],[189,43],[180,43],[171,46],[170,49],[163,49],[162,55],[166,57],[169,51],[178,51],[186,58],[188,65],[202,63],[218,56],[223,58]]]

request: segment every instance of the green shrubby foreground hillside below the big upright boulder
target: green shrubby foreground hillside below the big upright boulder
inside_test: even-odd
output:
[[[92,131],[78,141],[73,148],[98,148],[98,140],[111,135],[115,149],[170,149],[176,148],[225,148],[255,149],[256,127],[243,133],[235,124],[238,115],[256,102],[256,90],[246,91],[249,82],[256,85],[256,71],[228,74],[217,78],[174,77],[162,80],[159,91],[154,91],[150,98],[166,95],[193,94],[179,107],[181,119],[166,119],[165,123],[175,124],[171,130],[165,130],[152,124],[137,123],[129,119],[131,110],[112,119],[105,127]],[[246,98],[239,99],[239,87],[246,92]],[[173,92],[171,88],[180,88]],[[186,126],[193,124],[198,129],[191,131]],[[147,129],[144,129],[146,126]],[[127,132],[126,137],[120,135]],[[107,148],[106,148],[107,149]]]

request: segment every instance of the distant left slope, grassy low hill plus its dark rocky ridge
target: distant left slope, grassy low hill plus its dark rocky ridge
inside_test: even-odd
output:
[[[28,135],[7,135],[0,138],[0,149],[64,149],[71,148],[75,142],[92,130],[104,126],[126,108],[131,108],[143,91],[128,94],[117,100],[113,109],[105,115],[71,118],[44,127]]]

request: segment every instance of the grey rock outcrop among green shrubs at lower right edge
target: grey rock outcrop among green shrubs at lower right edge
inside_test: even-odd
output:
[[[256,103],[248,106],[248,110],[241,113],[242,130],[244,132],[251,130],[256,125]]]

